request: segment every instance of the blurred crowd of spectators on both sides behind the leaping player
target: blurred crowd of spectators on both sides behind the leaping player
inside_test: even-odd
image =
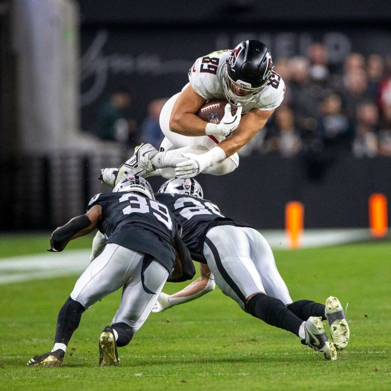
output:
[[[312,43],[306,57],[274,59],[286,84],[285,98],[266,130],[239,154],[299,153],[327,164],[341,154],[391,156],[391,58],[349,54],[336,66],[327,48]],[[134,91],[119,89],[101,106],[97,135],[127,146],[162,140],[159,113],[164,99],[152,100],[139,124],[127,118]]]

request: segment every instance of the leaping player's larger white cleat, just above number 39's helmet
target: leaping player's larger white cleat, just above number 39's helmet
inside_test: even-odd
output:
[[[149,174],[154,170],[151,159],[156,153],[158,153],[157,149],[149,143],[134,148],[133,156],[119,166],[115,184],[128,174],[142,176],[143,178],[151,176]]]

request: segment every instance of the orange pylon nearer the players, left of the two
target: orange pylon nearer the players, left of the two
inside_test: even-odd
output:
[[[285,231],[290,248],[299,248],[304,229],[304,205],[290,201],[285,206]]]

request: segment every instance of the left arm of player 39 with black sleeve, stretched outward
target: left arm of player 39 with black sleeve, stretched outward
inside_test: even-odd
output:
[[[96,228],[101,213],[101,206],[94,205],[86,214],[73,217],[65,225],[57,228],[50,238],[50,250],[48,251],[63,251],[70,240],[89,234]]]

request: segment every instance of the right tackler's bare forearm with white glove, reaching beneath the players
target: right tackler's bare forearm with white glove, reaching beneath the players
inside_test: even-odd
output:
[[[200,277],[173,295],[160,293],[152,312],[162,312],[177,304],[183,304],[198,299],[215,289],[215,279],[207,264],[199,264]]]

